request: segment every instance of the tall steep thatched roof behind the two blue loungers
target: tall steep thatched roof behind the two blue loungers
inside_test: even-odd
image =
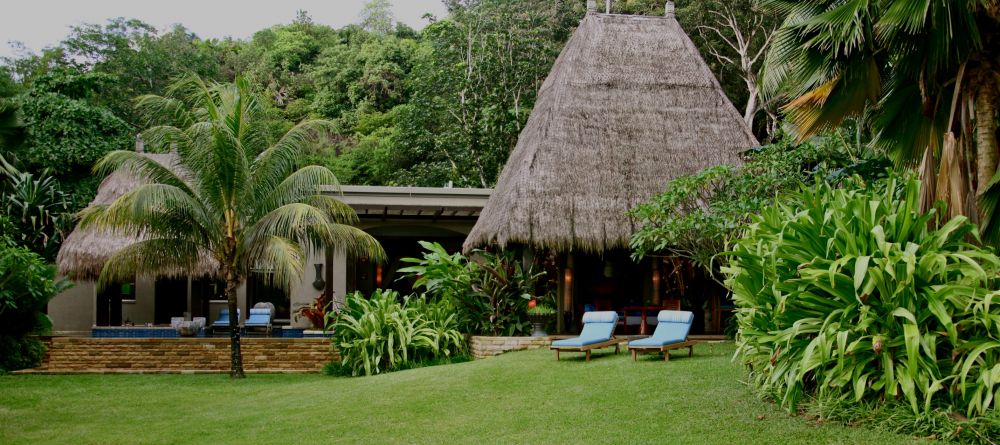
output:
[[[673,17],[589,13],[538,93],[465,249],[626,248],[626,212],[757,140]]]

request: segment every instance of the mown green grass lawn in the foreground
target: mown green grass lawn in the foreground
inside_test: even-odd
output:
[[[669,363],[611,351],[590,363],[537,350],[365,378],[6,376],[0,443],[914,442],[759,401],[738,382],[731,344]]]

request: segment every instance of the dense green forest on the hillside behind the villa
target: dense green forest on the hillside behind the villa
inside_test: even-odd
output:
[[[160,30],[121,17],[73,27],[60,44],[0,65],[0,155],[35,181],[54,178],[51,200],[82,208],[101,179],[94,162],[132,147],[150,123],[136,97],[164,94],[191,72],[217,81],[241,74],[269,98],[270,134],[306,118],[336,123],[301,163],[327,166],[341,183],[491,187],[585,2],[444,2],[447,16],[427,16],[419,32],[394,21],[389,0],[369,2],[357,24],[340,29],[300,11],[248,40],[203,40],[182,24]],[[663,14],[660,1],[614,3],[616,12]],[[776,23],[751,15],[750,1],[729,3],[681,2],[678,18],[742,112],[756,87],[742,74],[754,70],[740,69],[735,33],[750,37],[752,56],[766,33],[749,31]],[[744,29],[720,26],[723,13]],[[764,114],[758,108],[749,119]],[[768,125],[757,124],[766,139]]]

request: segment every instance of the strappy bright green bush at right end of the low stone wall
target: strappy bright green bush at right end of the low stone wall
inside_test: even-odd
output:
[[[349,295],[330,329],[342,366],[355,376],[465,350],[465,338],[449,302],[412,296],[400,299],[392,290],[377,290],[370,299],[357,292]]]

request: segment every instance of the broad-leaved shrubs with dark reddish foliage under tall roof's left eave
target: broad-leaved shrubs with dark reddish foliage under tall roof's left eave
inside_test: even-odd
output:
[[[413,264],[399,269],[415,278],[436,300],[450,301],[460,315],[460,326],[474,335],[522,335],[530,328],[528,301],[545,272],[525,269],[511,252],[475,251],[472,258],[449,254],[440,244],[421,241],[423,258],[403,258]]]

